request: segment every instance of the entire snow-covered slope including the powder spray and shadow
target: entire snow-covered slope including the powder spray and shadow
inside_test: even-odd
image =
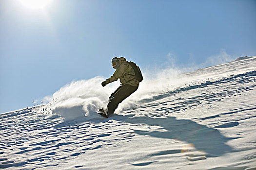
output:
[[[0,168],[256,170],[256,57],[162,73],[145,73],[109,119],[95,111],[118,83],[103,77],[0,114]]]

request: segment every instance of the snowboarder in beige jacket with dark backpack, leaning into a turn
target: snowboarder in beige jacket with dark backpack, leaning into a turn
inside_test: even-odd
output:
[[[117,109],[118,104],[133,94],[138,89],[139,82],[143,80],[140,69],[136,64],[126,61],[124,57],[114,57],[111,63],[116,71],[110,78],[102,82],[101,85],[104,87],[118,79],[120,79],[121,85],[109,97],[107,109],[99,109],[99,112],[104,112],[106,117],[112,115]]]

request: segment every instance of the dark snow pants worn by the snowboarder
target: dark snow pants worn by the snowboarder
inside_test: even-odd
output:
[[[107,110],[109,115],[112,115],[115,110],[118,108],[118,104],[122,102],[124,99],[129,97],[131,94],[133,94],[138,89],[138,86],[132,86],[132,85],[121,85],[118,87],[118,89],[111,94],[111,96],[108,99],[108,106]]]

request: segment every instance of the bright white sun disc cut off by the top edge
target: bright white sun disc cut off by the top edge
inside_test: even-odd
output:
[[[45,8],[52,0],[20,0],[20,2],[30,9],[43,9]]]

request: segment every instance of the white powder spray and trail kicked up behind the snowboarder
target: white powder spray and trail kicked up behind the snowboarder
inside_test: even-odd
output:
[[[219,58],[219,56],[217,57]],[[213,57],[211,57],[212,59]],[[246,63],[247,67],[243,67],[243,63]],[[207,85],[220,79],[254,70],[255,63],[256,57],[251,57],[208,68],[199,68],[196,71],[192,70],[197,67],[178,68],[174,64],[164,69],[142,68],[144,80],[134,94],[119,104],[115,113],[143,102],[157,100],[157,96],[195,88],[198,85]],[[105,79],[105,77],[94,77],[89,80],[71,82],[61,87],[52,96],[45,97],[43,101],[46,104],[43,104],[43,107],[36,112],[43,113],[45,119],[56,115],[65,119],[78,119],[84,116],[89,119],[95,118],[98,116],[95,112],[101,107],[106,107],[109,96],[119,86],[118,80],[102,87],[101,82]]]

